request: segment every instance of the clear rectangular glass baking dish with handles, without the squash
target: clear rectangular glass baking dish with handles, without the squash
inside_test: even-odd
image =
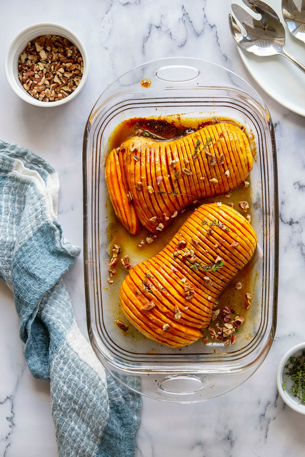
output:
[[[140,84],[143,78],[150,80],[150,87]],[[157,251],[154,244],[145,251],[136,250],[139,238],[124,230],[113,230],[114,212],[104,178],[109,138],[125,119],[177,115],[187,119],[234,119],[245,126],[255,154],[249,196],[252,225],[258,238],[251,260],[255,306],[247,311],[241,336],[234,346],[224,346],[219,341],[204,346],[198,341],[179,350],[172,349],[133,328],[123,335],[114,324],[115,319],[124,320],[118,292],[126,272],[122,269],[114,284],[107,284],[109,246],[121,237],[124,253],[130,255],[133,265]],[[210,62],[194,58],[149,62],[120,76],[97,100],[86,125],[83,161],[87,326],[98,359],[120,382],[155,399],[195,402],[241,384],[266,357],[274,337],[277,312],[276,147],[273,123],[260,96],[239,76]],[[180,219],[176,226],[166,230],[162,235],[164,245],[183,222]]]

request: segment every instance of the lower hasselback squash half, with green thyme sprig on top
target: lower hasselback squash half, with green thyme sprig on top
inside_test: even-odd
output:
[[[214,220],[219,224],[211,225]],[[217,203],[198,207],[159,254],[129,270],[120,289],[123,313],[152,340],[171,347],[193,343],[209,326],[219,293],[248,263],[256,245],[253,228],[235,209]],[[191,250],[195,264],[190,256],[182,257]],[[203,270],[219,257],[225,262],[221,268]]]

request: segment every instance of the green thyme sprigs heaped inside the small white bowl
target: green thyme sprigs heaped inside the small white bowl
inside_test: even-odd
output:
[[[289,363],[284,366],[284,369],[286,369],[284,375],[287,375],[294,383],[289,392],[300,399],[300,404],[305,404],[305,349],[302,350],[300,356],[289,357]],[[282,383],[284,390],[286,390],[286,381],[287,377]]]

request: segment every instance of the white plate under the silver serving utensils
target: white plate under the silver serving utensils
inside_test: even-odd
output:
[[[245,7],[242,0],[232,0]],[[282,15],[281,0],[267,0],[284,24],[287,51],[305,64],[305,43],[289,32]],[[281,105],[305,116],[305,73],[283,56],[257,57],[244,51],[237,43],[237,50],[246,69],[265,92]]]

